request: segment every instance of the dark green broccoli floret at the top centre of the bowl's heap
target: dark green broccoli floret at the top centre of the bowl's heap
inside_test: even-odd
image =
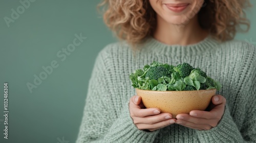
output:
[[[178,64],[174,67],[174,70],[179,73],[180,77],[185,78],[189,76],[193,66],[189,65],[188,63]]]

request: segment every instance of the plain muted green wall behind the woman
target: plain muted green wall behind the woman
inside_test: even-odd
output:
[[[17,11],[22,4],[0,1],[0,142],[75,142],[95,58],[106,44],[116,41],[97,13],[99,2],[37,0],[8,27],[4,17],[10,18],[11,9]],[[247,12],[250,31],[236,39],[256,44],[253,13],[256,8]],[[58,51],[80,33],[87,39],[61,61]],[[53,60],[59,66],[31,93],[27,83],[33,84],[34,75],[39,76],[42,66]],[[5,82],[9,86],[9,139],[3,138]]]

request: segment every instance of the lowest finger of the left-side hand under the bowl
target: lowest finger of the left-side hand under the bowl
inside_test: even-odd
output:
[[[164,128],[168,125],[172,125],[175,123],[175,119],[170,119],[162,122],[158,122],[156,124],[136,124],[137,128],[140,130],[150,130],[150,131],[155,131],[160,128]]]

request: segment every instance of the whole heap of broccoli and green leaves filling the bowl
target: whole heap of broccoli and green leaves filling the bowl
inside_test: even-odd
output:
[[[174,66],[154,61],[150,65],[146,64],[143,69],[135,70],[129,78],[134,88],[143,90],[220,90],[222,87],[203,70],[188,63]]]

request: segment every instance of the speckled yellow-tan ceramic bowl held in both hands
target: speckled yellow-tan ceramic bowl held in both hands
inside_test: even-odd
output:
[[[192,110],[205,110],[216,89],[193,91],[153,91],[136,88],[146,108],[159,108],[161,112],[171,113],[176,117],[180,113]]]

